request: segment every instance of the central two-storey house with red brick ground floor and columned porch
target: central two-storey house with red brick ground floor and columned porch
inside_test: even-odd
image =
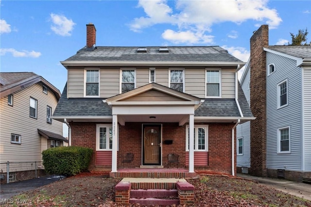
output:
[[[244,63],[218,46],[86,47],[68,70],[53,119],[69,123],[69,143],[90,147],[90,169],[179,167],[235,174],[236,124],[255,119],[237,79]],[[190,147],[189,149],[189,146]]]

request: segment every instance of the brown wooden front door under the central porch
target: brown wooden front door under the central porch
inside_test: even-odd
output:
[[[161,165],[161,125],[143,125],[143,165]]]

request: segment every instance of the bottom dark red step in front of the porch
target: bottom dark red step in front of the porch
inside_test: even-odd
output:
[[[144,206],[152,206],[152,205],[177,206],[179,205],[179,199],[130,198],[130,204],[140,204]]]

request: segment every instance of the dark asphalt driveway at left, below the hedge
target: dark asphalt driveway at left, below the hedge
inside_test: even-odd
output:
[[[24,191],[33,190],[38,187],[48,185],[59,180],[59,178],[59,175],[52,175],[2,184],[0,185],[0,201],[3,201],[3,199],[9,199],[12,196],[23,193]]]

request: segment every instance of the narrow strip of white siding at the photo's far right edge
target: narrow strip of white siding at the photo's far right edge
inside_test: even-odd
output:
[[[311,171],[311,68],[303,69],[304,83],[304,138],[305,138],[305,171]]]

